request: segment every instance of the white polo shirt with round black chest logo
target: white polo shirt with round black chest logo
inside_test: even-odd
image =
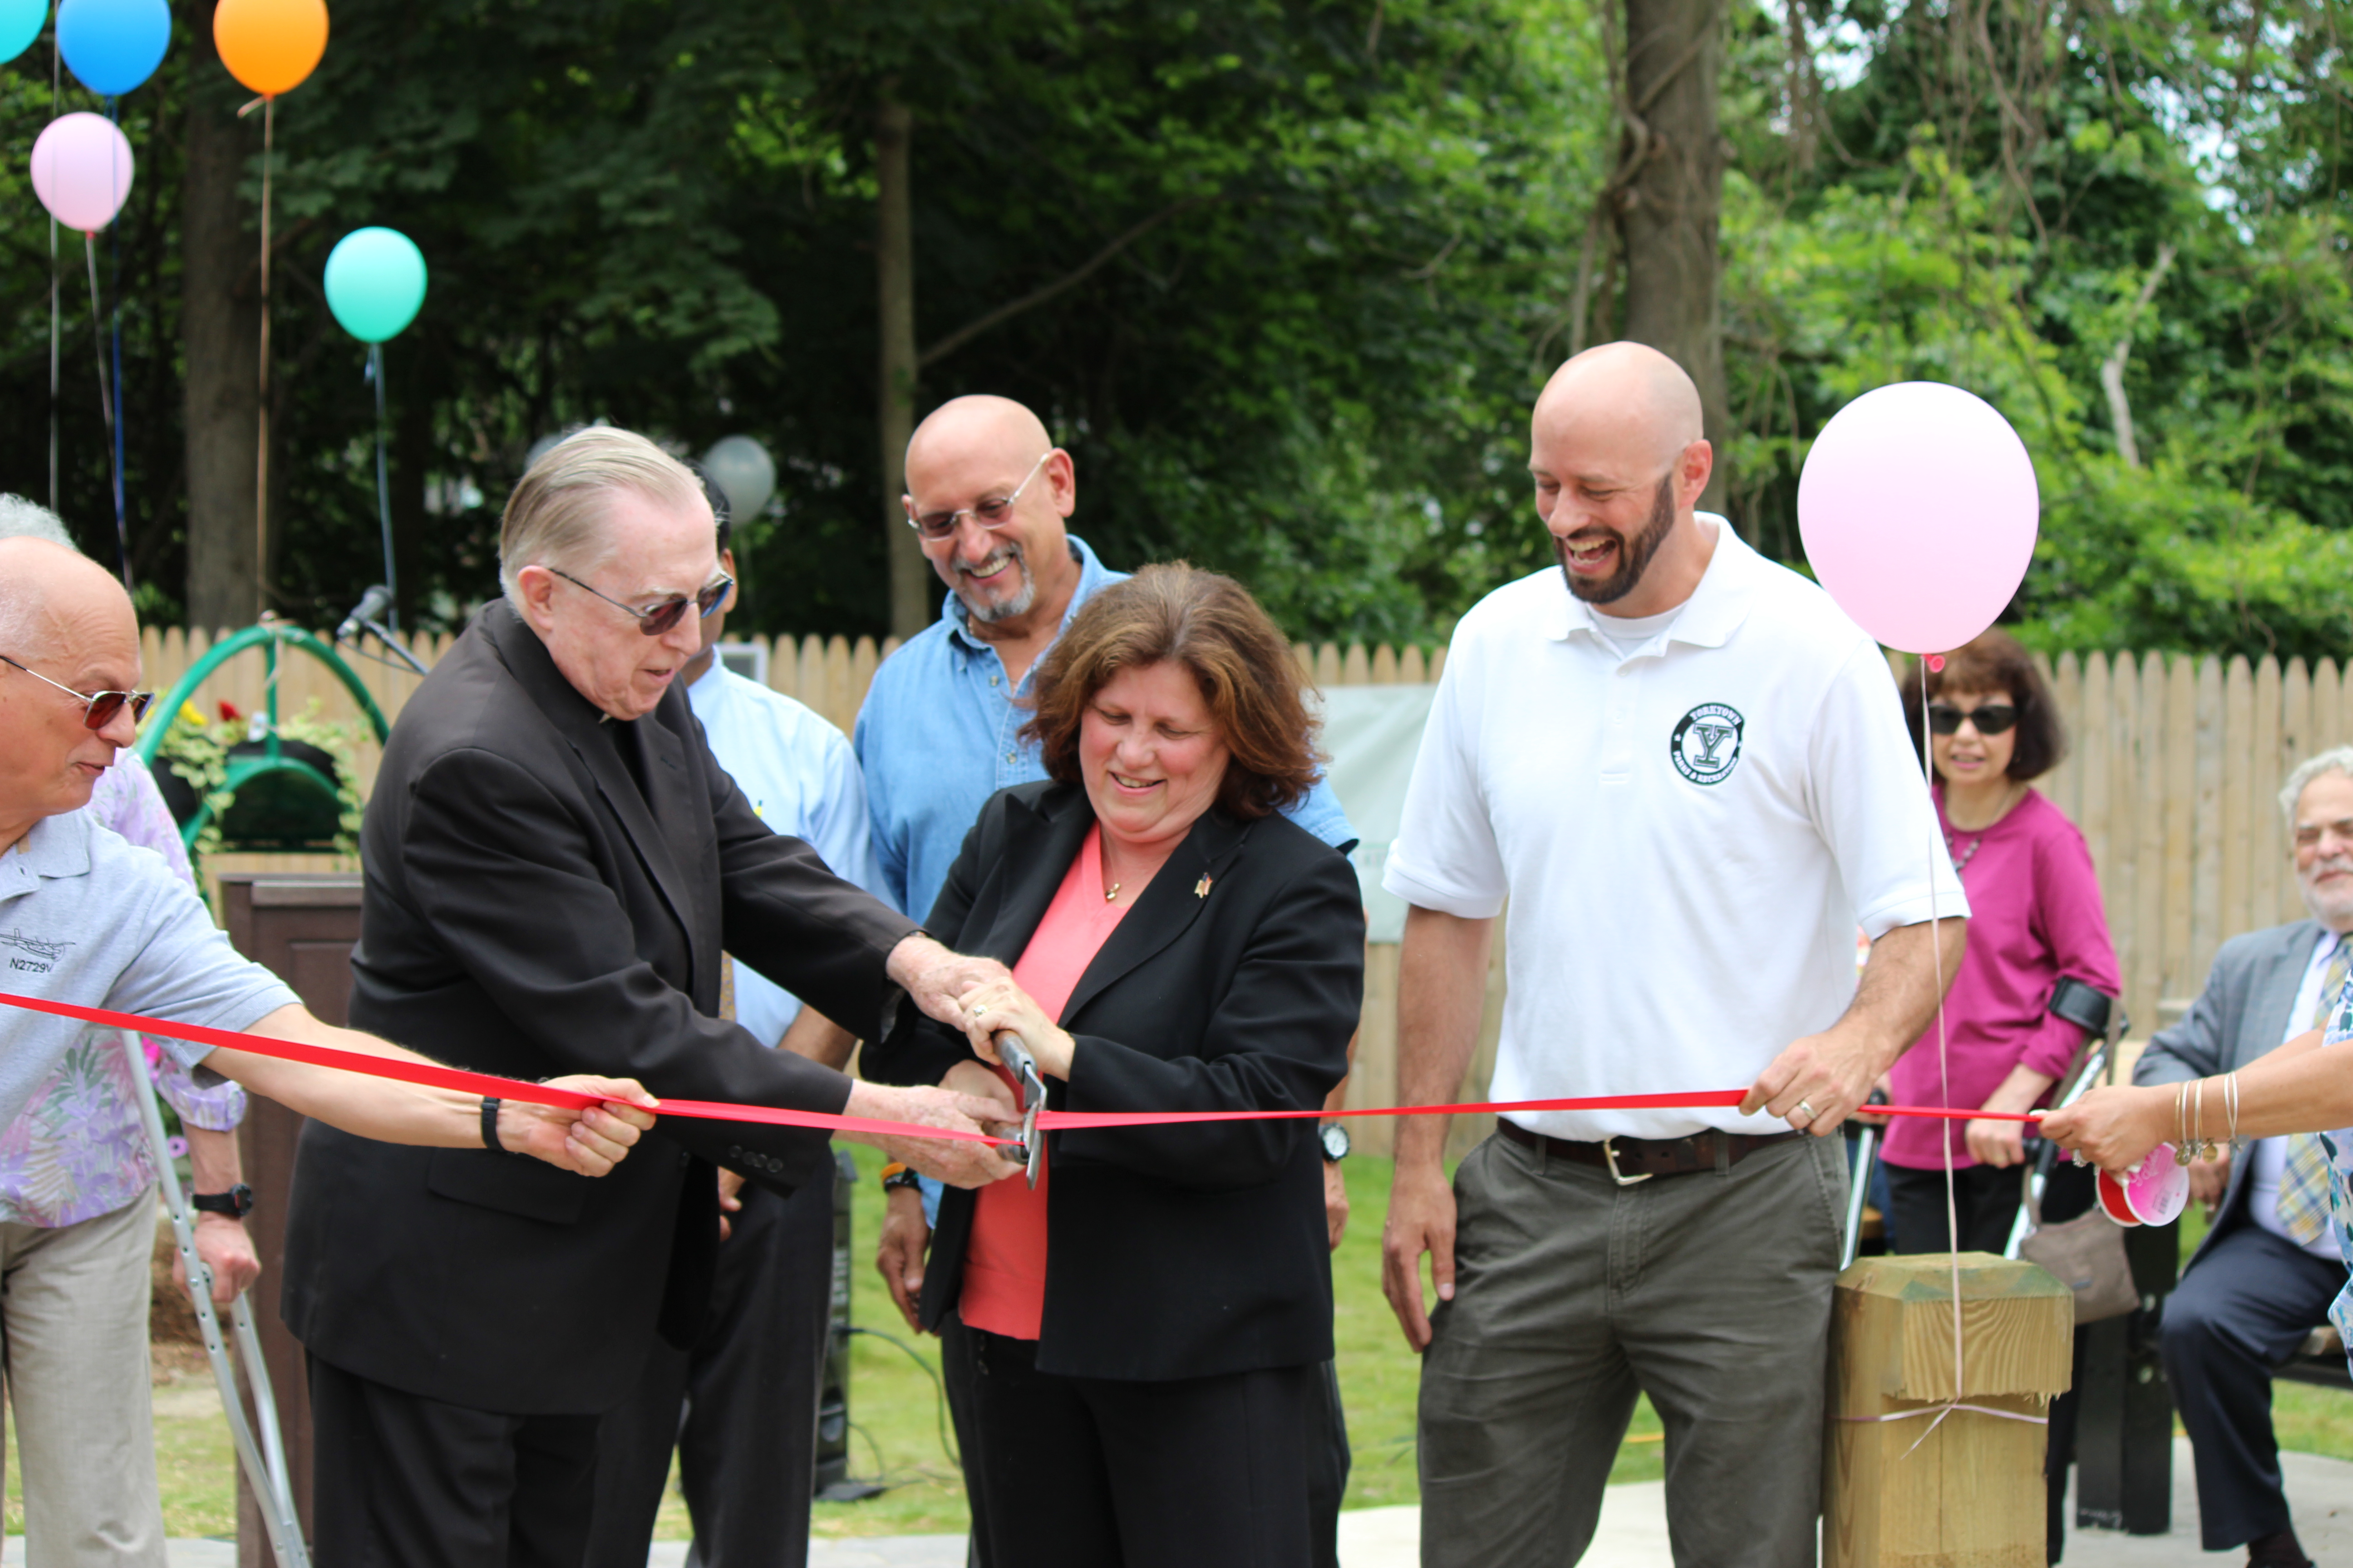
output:
[[[1548,567],[1447,649],[1381,882],[1468,919],[1508,898],[1497,1100],[1746,1088],[1847,1009],[1857,924],[1967,914],[1878,644],[1701,522],[1715,555],[1649,642],[1619,654]],[[1729,1107],[1513,1121],[1788,1131]]]

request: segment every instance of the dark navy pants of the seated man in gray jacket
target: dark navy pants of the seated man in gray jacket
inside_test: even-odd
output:
[[[2165,1298],[2160,1349],[2174,1408],[2198,1460],[2198,1530],[2207,1552],[2289,1528],[2271,1368],[2327,1321],[2346,1265],[2242,1220]]]

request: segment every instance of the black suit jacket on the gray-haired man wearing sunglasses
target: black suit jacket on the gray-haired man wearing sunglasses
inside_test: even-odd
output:
[[[642,780],[642,788],[640,783]],[[722,1023],[720,945],[878,1032],[913,922],[769,832],[673,686],[607,724],[501,599],[416,689],[362,832],[351,1023],[520,1079],[838,1112],[849,1081]],[[619,1401],[718,1255],[708,1161],[791,1190],[826,1135],[661,1121],[600,1180],[485,1150],[304,1128],[282,1312],[313,1354],[515,1415]]]

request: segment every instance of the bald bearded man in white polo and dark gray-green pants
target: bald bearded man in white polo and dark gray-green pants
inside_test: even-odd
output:
[[[1638,1392],[1675,1563],[1814,1561],[1828,1133],[1934,1013],[1967,905],[1878,646],[1692,510],[1711,463],[1666,355],[1553,376],[1529,473],[1558,574],[1457,628],[1384,875],[1412,905],[1400,1105],[1457,1098],[1506,898],[1497,1100],[1751,1084],[1737,1110],[1504,1119],[1452,1190],[1445,1121],[1398,1124],[1381,1262],[1426,1352],[1424,1563],[1577,1561]]]

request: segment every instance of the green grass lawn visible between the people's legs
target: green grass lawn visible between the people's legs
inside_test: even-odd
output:
[[[939,1340],[906,1328],[873,1269],[875,1232],[882,1225],[880,1154],[852,1150],[859,1185],[852,1199],[852,1300],[859,1328],[887,1333],[908,1345],[856,1335],[849,1349],[849,1420],[854,1425],[849,1469],[880,1476],[889,1490],[868,1502],[819,1502],[819,1535],[929,1535],[967,1528],[965,1486],[939,1436]],[[1341,1401],[1355,1465],[1348,1472],[1348,1507],[1393,1507],[1421,1495],[1414,1472],[1414,1392],[1419,1361],[1405,1349],[1398,1321],[1381,1298],[1381,1218],[1388,1211],[1388,1164],[1355,1157],[1348,1173],[1348,1234],[1332,1258],[1334,1342]],[[2181,1225],[2186,1260],[2205,1234],[2195,1211]],[[915,1359],[922,1361],[922,1371]],[[2273,1385],[2280,1446],[2353,1460],[2353,1394],[2297,1382]],[[202,1363],[158,1378],[155,1446],[162,1476],[165,1523],[172,1535],[226,1535],[235,1528],[233,1460],[228,1429],[209,1401]],[[953,1441],[953,1439],[951,1439]],[[1659,1418],[1649,1401],[1635,1408],[1626,1446],[1609,1481],[1654,1481],[1661,1474]],[[7,1528],[24,1514],[16,1486],[16,1446],[9,1441]],[[687,1512],[675,1486],[661,1512],[664,1540],[687,1537]]]

